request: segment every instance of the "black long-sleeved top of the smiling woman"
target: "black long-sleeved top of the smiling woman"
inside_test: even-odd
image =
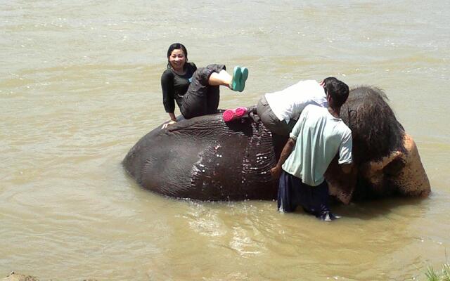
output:
[[[197,70],[194,63],[186,63],[186,73],[179,75],[174,72],[172,67],[167,67],[161,75],[162,103],[168,113],[174,113],[175,100],[178,107],[184,94],[188,91],[191,84],[192,74]]]

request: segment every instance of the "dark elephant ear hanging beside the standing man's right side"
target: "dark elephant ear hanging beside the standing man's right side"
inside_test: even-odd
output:
[[[338,164],[338,156],[328,166],[325,173],[325,179],[328,183],[330,195],[338,198],[344,204],[349,204],[352,201],[353,192],[356,188],[356,166],[352,167],[349,174],[345,174]]]

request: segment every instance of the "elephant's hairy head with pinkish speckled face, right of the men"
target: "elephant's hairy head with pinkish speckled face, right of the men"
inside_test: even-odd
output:
[[[345,176],[333,162],[326,177],[330,193],[342,202],[430,193],[416,143],[386,100],[380,89],[360,86],[350,91],[341,109],[341,118],[352,130],[354,167]]]

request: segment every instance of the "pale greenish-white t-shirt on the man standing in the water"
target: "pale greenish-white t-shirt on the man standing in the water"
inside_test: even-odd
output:
[[[323,174],[338,152],[339,164],[352,163],[352,131],[327,108],[304,107],[289,137],[296,141],[295,148],[283,170],[307,185],[317,186],[325,180]]]

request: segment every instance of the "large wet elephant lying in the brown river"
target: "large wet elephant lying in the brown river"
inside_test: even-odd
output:
[[[325,178],[330,196],[349,204],[395,195],[426,197],[430,182],[416,143],[397,121],[385,93],[357,86],[341,107],[352,130],[353,168],[343,174],[337,157]],[[179,117],[180,118],[180,117]],[[160,126],[129,150],[122,165],[143,188],[193,200],[274,200],[272,178],[285,141],[275,141],[257,117],[224,122],[221,112]]]

